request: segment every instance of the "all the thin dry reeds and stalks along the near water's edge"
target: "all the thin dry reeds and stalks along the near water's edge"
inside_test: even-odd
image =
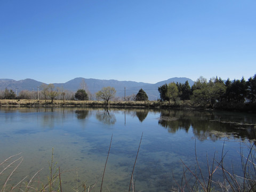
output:
[[[142,133],[143,135],[143,133]],[[141,135],[141,140],[142,140]],[[135,189],[135,181],[133,179],[134,168],[138,158],[139,149],[141,145],[141,140],[139,143],[139,148],[137,152],[137,156],[135,158],[135,162],[133,165],[131,180],[129,186],[130,191],[137,191]],[[109,145],[109,150],[107,154],[107,159],[105,163],[105,167],[103,169],[102,181],[100,185],[100,191],[102,191],[103,178],[106,171],[107,161],[109,157],[109,151],[111,147],[112,137]],[[255,191],[256,190],[256,148],[255,143],[251,143],[247,147],[247,151],[245,149],[240,148],[239,155],[241,157],[241,165],[239,166],[239,171],[234,168],[234,165],[227,165],[225,163],[225,156],[228,152],[224,150],[225,143],[223,143],[221,156],[218,159],[217,154],[214,153],[212,159],[209,159],[206,156],[206,163],[202,164],[197,159],[197,151],[196,151],[196,142],[195,142],[195,167],[189,167],[186,165],[186,162],[183,162],[180,159],[181,166],[183,165],[183,174],[181,180],[178,180],[173,176],[173,180],[175,181],[175,185],[173,185],[169,191],[178,192],[178,191]],[[25,178],[20,178],[18,182],[13,183],[12,177],[15,175],[15,172],[19,169],[23,161],[23,157],[21,154],[13,155],[2,163],[0,163],[0,191],[66,191],[62,188],[62,174],[65,174],[68,171],[60,170],[60,167],[57,166],[57,163],[53,161],[53,148],[51,161],[49,162],[49,175],[47,179],[42,179],[39,177],[39,173],[42,169],[39,169],[32,177],[26,176]],[[206,166],[206,172],[203,171],[203,166]],[[230,168],[231,167],[231,168]],[[66,173],[68,174],[68,173]],[[220,177],[221,175],[221,177]],[[217,176],[217,177],[215,177]],[[29,178],[30,177],[30,178]],[[222,178],[222,179],[220,179]],[[86,178],[85,178],[86,179]],[[76,186],[73,187],[74,191],[95,191],[94,187],[99,185],[97,181],[94,183],[86,183],[86,180],[79,182],[76,181]],[[45,182],[43,182],[44,180]],[[77,180],[77,179],[76,179]],[[171,181],[170,181],[171,182]],[[98,186],[99,187],[99,186]],[[128,188],[128,186],[127,186]],[[108,189],[109,190],[109,189]]]

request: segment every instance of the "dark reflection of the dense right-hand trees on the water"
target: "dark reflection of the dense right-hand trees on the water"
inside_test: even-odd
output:
[[[225,115],[218,111],[163,110],[158,124],[170,133],[193,129],[198,140],[225,138],[256,139],[255,119],[237,114]]]

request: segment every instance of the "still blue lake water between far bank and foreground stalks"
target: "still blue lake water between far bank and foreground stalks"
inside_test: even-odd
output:
[[[256,118],[227,111],[1,107],[0,122],[0,163],[15,154],[23,157],[9,185],[26,175],[33,177],[41,168],[37,180],[47,181],[54,148],[53,161],[68,171],[61,175],[63,191],[95,182],[93,191],[99,191],[113,134],[103,191],[128,191],[143,133],[133,175],[135,189],[168,191],[181,180],[181,160],[194,169],[195,145],[203,171],[214,152],[220,159],[224,145],[227,169],[232,162],[239,174],[239,151],[246,151],[255,139]],[[0,189],[2,185],[3,178]]]

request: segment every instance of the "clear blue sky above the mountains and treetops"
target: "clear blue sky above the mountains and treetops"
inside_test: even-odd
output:
[[[255,0],[0,0],[0,78],[247,80],[255,10]]]

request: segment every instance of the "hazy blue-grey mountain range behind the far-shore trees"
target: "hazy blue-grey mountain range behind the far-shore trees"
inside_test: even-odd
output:
[[[142,82],[133,82],[133,81],[117,81],[117,80],[101,80],[93,78],[82,78],[77,77],[66,83],[53,83],[55,87],[61,87],[64,90],[77,91],[78,89],[83,88],[83,82],[86,84],[86,89],[89,90],[92,94],[98,92],[102,87],[111,86],[116,89],[116,97],[124,97],[124,89],[126,90],[126,95],[137,94],[138,91],[142,88],[148,95],[149,100],[156,100],[159,98],[158,87],[164,85],[165,83],[185,83],[188,81],[189,85],[192,86],[194,81],[186,77],[174,77],[167,79],[166,81],[161,81],[155,84],[151,83],[142,83]],[[41,86],[43,82],[35,81],[34,79],[23,79],[20,81],[15,81],[14,79],[0,79],[0,90],[5,88],[17,90],[19,93],[21,90],[36,91],[37,86]]]

